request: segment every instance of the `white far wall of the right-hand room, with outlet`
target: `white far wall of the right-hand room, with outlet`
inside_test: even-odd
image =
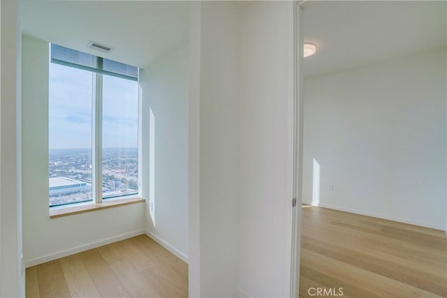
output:
[[[447,229],[446,49],[305,80],[304,127],[304,202],[315,159],[322,206]]]

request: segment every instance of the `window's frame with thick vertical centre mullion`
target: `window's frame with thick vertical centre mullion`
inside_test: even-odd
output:
[[[50,44],[51,49],[51,44]],[[51,50],[50,50],[51,53]],[[51,54],[50,54],[51,57]],[[82,201],[82,202],[68,202],[64,204],[50,205],[50,210],[60,209],[60,208],[73,208],[82,205],[91,205],[91,204],[102,204],[103,200],[106,202],[113,202],[115,200],[126,200],[135,198],[141,198],[141,173],[140,173],[140,164],[141,164],[141,155],[140,155],[140,131],[141,131],[141,105],[140,105],[140,95],[135,98],[138,102],[138,112],[137,112],[137,161],[138,161],[138,193],[130,194],[130,195],[121,195],[111,198],[103,198],[103,75],[110,75],[109,72],[102,71],[102,57],[96,57],[96,61],[98,63],[98,71],[95,71],[94,68],[82,68],[78,66],[74,66],[70,63],[64,63],[64,61],[59,61],[56,59],[50,59],[50,64],[59,64],[61,66],[65,66],[68,68],[78,68],[82,70],[89,71],[91,73],[91,84],[92,84],[92,92],[91,92],[91,201]],[[137,68],[137,72],[139,74],[139,68]],[[112,75],[114,77],[119,77],[122,80],[131,80],[134,82],[139,82],[138,78],[135,80],[132,77],[127,77],[126,75]],[[139,91],[138,91],[139,93]],[[48,149],[48,154],[50,153]],[[135,202],[139,202],[138,200]],[[101,207],[102,208],[102,207]],[[57,217],[57,216],[56,216]]]

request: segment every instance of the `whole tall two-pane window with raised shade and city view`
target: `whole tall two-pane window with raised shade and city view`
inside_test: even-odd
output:
[[[51,45],[50,207],[138,195],[138,68]]]

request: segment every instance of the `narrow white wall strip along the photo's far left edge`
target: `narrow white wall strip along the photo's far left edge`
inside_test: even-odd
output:
[[[15,1],[1,1],[0,101],[0,296],[24,296],[20,198],[20,13]]]

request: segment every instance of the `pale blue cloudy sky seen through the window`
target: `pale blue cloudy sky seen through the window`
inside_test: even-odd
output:
[[[91,148],[92,73],[50,64],[50,149]],[[103,75],[103,148],[137,147],[138,82]]]

